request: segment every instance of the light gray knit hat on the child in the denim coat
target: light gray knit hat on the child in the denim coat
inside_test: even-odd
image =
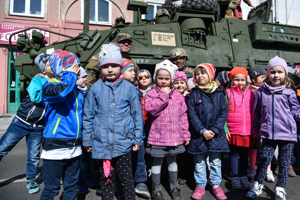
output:
[[[99,69],[106,64],[116,64],[122,68],[122,55],[116,43],[104,44],[99,53]]]

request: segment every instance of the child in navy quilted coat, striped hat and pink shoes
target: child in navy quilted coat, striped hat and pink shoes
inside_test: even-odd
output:
[[[188,101],[190,122],[193,125],[188,151],[194,156],[197,184],[193,199],[201,199],[205,194],[207,152],[211,166],[209,178],[213,185],[212,194],[216,199],[227,199],[220,183],[221,153],[229,152],[224,129],[228,109],[223,90],[213,81],[215,71],[212,64],[202,63],[196,66],[195,87]]]

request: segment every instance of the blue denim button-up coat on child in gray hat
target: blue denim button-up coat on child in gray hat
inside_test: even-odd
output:
[[[137,89],[126,80],[99,80],[85,98],[83,146],[92,146],[92,157],[111,159],[142,145],[143,117]]]

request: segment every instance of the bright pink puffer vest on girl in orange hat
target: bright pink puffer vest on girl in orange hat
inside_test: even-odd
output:
[[[250,135],[251,134],[251,119],[254,104],[254,94],[246,87],[243,92],[239,85],[233,86],[234,97],[230,89],[226,90],[230,101],[227,126],[230,134],[233,135]]]

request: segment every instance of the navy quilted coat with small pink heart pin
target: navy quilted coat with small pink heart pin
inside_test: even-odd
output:
[[[190,145],[188,152],[202,154],[210,152],[229,152],[224,125],[228,108],[224,91],[217,88],[213,93],[204,93],[197,87],[190,93],[189,115],[193,128],[190,128]],[[202,133],[214,131],[211,140],[206,140]]]

